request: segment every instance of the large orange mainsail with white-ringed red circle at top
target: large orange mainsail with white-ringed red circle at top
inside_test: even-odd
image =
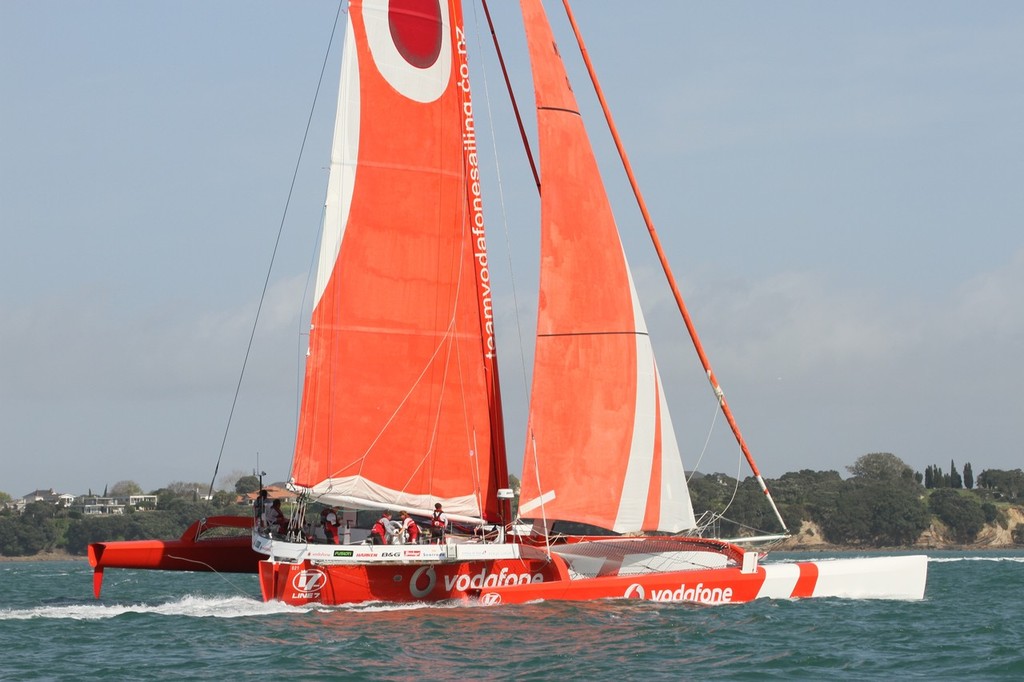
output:
[[[350,3],[292,465],[313,499],[499,518],[467,77],[458,2]]]

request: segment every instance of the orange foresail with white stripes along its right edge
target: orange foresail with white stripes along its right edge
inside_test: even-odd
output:
[[[521,1],[541,159],[541,294],[519,514],[696,524],[647,328],[540,0]]]

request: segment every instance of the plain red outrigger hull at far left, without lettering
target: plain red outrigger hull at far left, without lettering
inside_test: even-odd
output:
[[[252,518],[211,516],[193,523],[178,540],[133,540],[89,545],[93,594],[99,597],[104,568],[257,572],[263,557],[252,550],[252,538],[203,538],[204,532],[218,527],[249,529]]]

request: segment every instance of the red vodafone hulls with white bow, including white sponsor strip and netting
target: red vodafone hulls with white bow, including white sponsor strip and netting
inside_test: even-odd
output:
[[[677,551],[663,547],[657,552],[630,542],[585,545],[562,546],[550,556],[539,548],[490,546],[494,556],[505,550],[517,556],[486,558],[481,553],[466,560],[459,558],[459,546],[432,549],[428,558],[418,546],[353,546],[333,550],[341,557],[337,561],[323,551],[313,559],[261,561],[260,589],[265,600],[294,605],[624,598],[701,604],[809,597],[913,600],[924,597],[928,573],[926,556],[759,565],[755,552],[743,553],[728,544],[718,552],[693,550],[684,543]],[[466,549],[462,554],[469,556]],[[679,569],[651,571],[651,565]]]

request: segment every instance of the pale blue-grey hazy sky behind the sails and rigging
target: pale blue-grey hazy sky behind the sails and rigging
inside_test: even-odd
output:
[[[492,5],[529,125],[516,6]],[[548,7],[593,127],[560,11]],[[208,482],[218,458],[218,486],[287,479],[336,12],[327,0],[0,2],[0,491]],[[1024,5],[590,0],[574,12],[762,473],[845,475],[874,452],[919,471],[1024,466]],[[475,50],[487,38],[474,4],[466,25]],[[537,193],[500,130],[494,63],[471,52],[501,159],[484,201],[492,260],[510,263],[493,275],[518,473]],[[592,139],[684,464],[746,475],[608,135]]]

